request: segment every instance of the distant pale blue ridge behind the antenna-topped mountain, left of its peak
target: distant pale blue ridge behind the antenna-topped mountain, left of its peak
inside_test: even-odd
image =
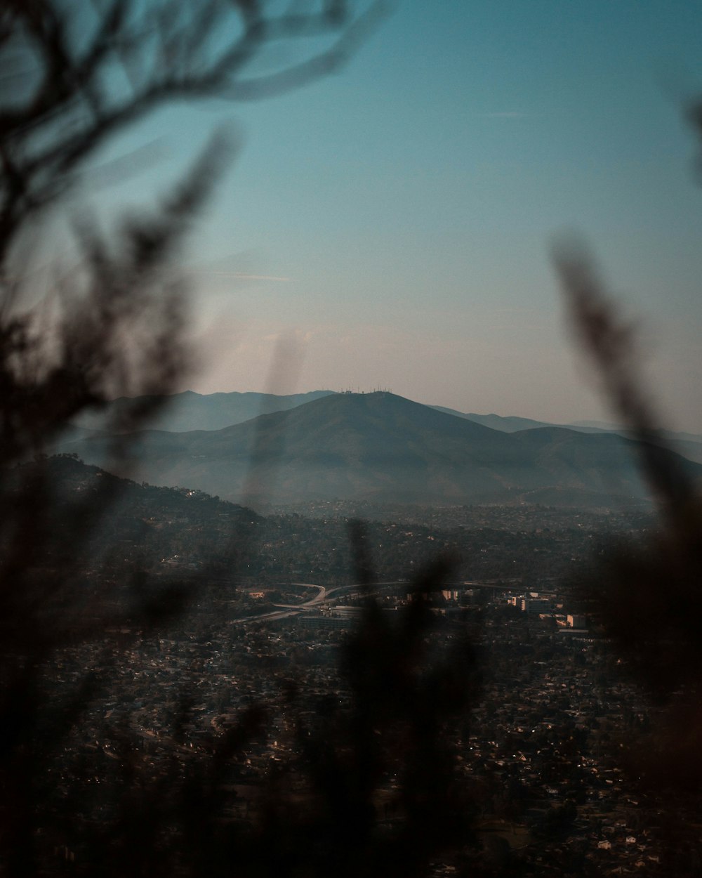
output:
[[[140,396],[120,397],[102,410],[88,410],[75,418],[75,426],[104,430],[113,423],[129,423],[131,412],[158,404],[157,414],[149,421],[149,427],[184,433],[188,430],[219,430],[250,421],[259,414],[280,412],[302,406],[312,399],[328,396],[332,391],[317,390],[309,393],[291,393],[277,396],[275,393],[196,393],[185,391],[168,397]]]

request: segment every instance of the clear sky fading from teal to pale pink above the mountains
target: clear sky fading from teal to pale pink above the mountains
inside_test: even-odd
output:
[[[612,420],[551,262],[575,232],[666,425],[700,433],[700,36],[697,0],[405,0],[338,74],[155,113],[100,157],[151,160],[92,197],[139,204],[214,127],[240,140],[183,257],[201,351],[183,389]]]

